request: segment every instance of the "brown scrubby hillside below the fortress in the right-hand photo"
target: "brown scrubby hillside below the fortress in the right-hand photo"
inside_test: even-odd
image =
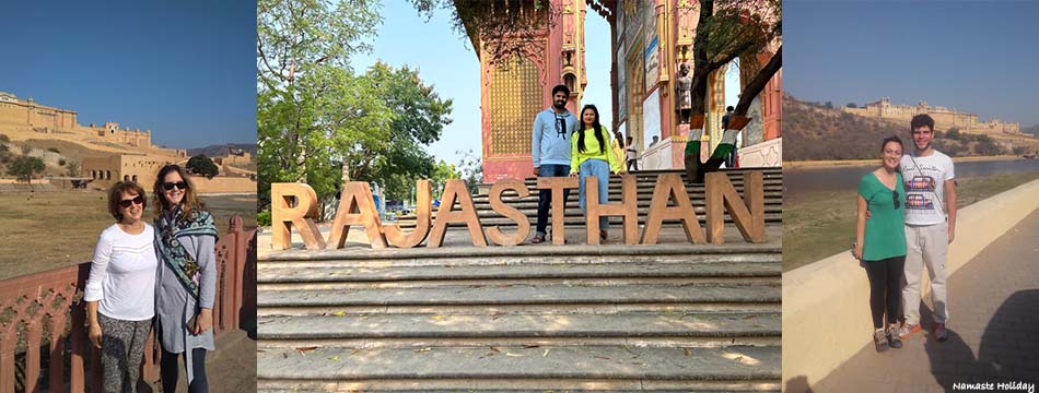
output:
[[[868,119],[818,103],[783,96],[783,159],[829,160],[878,158],[880,141],[890,135],[912,148],[909,124]],[[985,135],[938,132],[934,147],[953,157],[1009,153]]]

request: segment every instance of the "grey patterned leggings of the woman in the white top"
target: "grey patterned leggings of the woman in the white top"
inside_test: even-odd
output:
[[[97,313],[101,323],[101,365],[105,370],[105,393],[137,392],[144,342],[152,321],[122,321]]]

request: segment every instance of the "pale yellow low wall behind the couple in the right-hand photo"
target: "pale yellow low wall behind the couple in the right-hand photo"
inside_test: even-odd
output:
[[[946,273],[952,276],[985,247],[1039,209],[1039,180],[1032,180],[960,209],[956,241],[949,246]],[[926,299],[930,281],[920,287]],[[783,383],[787,393],[812,385],[872,346],[869,283],[851,252],[783,273]]]

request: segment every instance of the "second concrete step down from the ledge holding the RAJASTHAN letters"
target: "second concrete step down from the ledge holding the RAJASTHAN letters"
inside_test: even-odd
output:
[[[257,307],[779,302],[780,281],[754,285],[500,285],[257,290]]]

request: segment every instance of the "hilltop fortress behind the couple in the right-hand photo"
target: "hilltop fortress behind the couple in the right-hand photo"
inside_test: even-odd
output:
[[[980,122],[978,121],[978,115],[961,112],[956,109],[949,109],[945,107],[932,107],[929,106],[927,102],[924,100],[921,100],[920,104],[917,104],[917,106],[891,105],[890,99],[885,97],[877,102],[867,103],[865,107],[862,108],[844,107],[841,109],[852,115],[868,117],[872,119],[903,121],[906,123],[909,123],[913,116],[927,114],[934,118],[934,127],[935,130],[938,131],[947,131],[950,128],[957,128],[961,132],[981,134],[1022,134],[1020,123],[1004,122],[1000,120]]]

